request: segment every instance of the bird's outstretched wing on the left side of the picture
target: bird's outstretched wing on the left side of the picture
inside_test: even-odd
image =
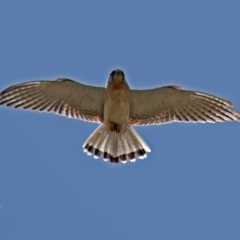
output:
[[[103,95],[104,88],[59,78],[13,85],[0,93],[0,104],[101,122]]]

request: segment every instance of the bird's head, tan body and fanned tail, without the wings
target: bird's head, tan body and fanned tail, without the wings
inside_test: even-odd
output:
[[[111,73],[104,91],[103,123],[86,140],[83,147],[95,157],[111,162],[145,158],[148,145],[130,127],[131,91],[121,70]]]

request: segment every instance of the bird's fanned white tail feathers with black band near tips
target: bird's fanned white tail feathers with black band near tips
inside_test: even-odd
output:
[[[150,148],[137,132],[127,126],[125,132],[110,131],[106,125],[100,125],[83,144],[84,152],[98,158],[103,154],[105,161],[126,163],[136,158],[146,158]]]

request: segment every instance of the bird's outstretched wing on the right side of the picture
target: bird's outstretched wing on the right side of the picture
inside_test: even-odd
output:
[[[173,121],[240,121],[231,102],[206,93],[166,86],[131,91],[130,124],[161,124]]]

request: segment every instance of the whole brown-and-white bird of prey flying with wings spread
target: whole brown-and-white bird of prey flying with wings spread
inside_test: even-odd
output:
[[[173,85],[131,90],[119,69],[111,72],[105,88],[67,78],[13,85],[0,93],[0,104],[100,123],[83,149],[112,163],[134,162],[151,151],[131,125],[240,121],[228,100]]]

